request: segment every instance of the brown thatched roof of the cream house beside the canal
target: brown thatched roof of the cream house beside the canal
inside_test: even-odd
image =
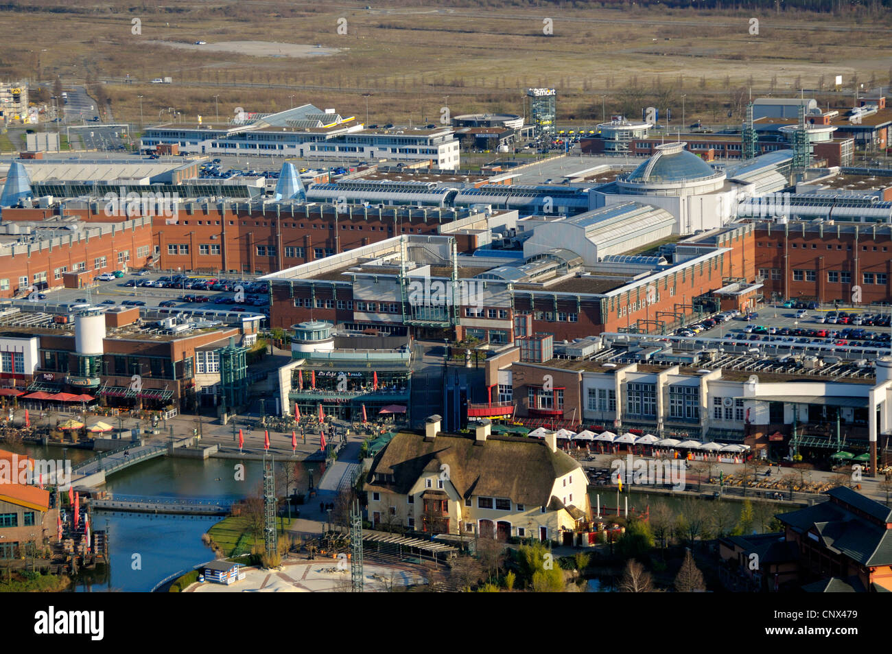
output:
[[[549,504],[558,477],[576,469],[583,474],[572,457],[539,440],[491,435],[475,445],[474,435],[439,434],[425,441],[421,433],[401,432],[373,461],[368,487],[406,494],[418,477],[439,472],[442,464],[449,466],[450,482],[463,498],[507,497],[530,506]],[[392,475],[393,482],[374,482],[375,475]]]

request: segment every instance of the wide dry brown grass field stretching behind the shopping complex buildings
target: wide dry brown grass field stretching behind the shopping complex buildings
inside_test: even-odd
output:
[[[226,120],[238,106],[274,112],[308,102],[365,120],[363,93],[372,94],[370,123],[424,124],[439,120],[444,105],[452,114],[522,113],[526,87],[556,87],[566,124],[635,116],[648,104],[672,107],[681,119],[682,95],[688,122],[737,122],[750,89],[754,96],[822,89],[826,104],[849,102],[829,93],[836,75],[849,90],[892,81],[892,18],[866,10],[766,13],[753,34],[751,11],[576,3],[10,6],[19,11],[4,11],[12,20],[0,21],[2,77],[89,81],[93,95],[111,99],[115,120],[135,123],[143,95],[145,124],[163,120],[169,107],[186,124],[198,115],[213,124],[218,110]],[[198,40],[229,45],[183,47]],[[270,56],[256,44],[240,51],[241,41],[335,54]],[[124,83],[128,75],[140,81]],[[174,84],[145,83],[165,76]]]

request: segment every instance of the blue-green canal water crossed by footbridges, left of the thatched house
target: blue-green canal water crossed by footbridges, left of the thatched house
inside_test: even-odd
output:
[[[35,459],[62,459],[60,447],[25,445],[24,450]],[[68,448],[64,456],[77,464],[94,457],[95,452]],[[238,464],[244,464],[244,481],[237,478],[241,475],[236,476]],[[301,467],[301,490],[306,490],[306,472],[312,469],[314,482],[318,483],[319,464]],[[279,471],[277,465],[277,474]],[[263,462],[259,460],[161,457],[115,473],[103,490],[119,495],[241,500],[258,493],[262,479]],[[109,529],[109,574],[78,582],[72,590],[151,591],[161,579],[180,570],[191,570],[213,557],[202,544],[202,534],[219,519],[97,510],[94,528]]]

